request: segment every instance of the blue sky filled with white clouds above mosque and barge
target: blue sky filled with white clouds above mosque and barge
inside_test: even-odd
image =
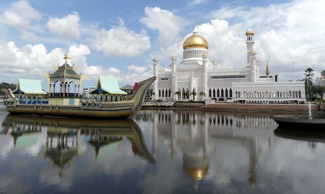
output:
[[[325,70],[323,0],[296,1],[8,1],[0,3],[0,82],[40,79],[53,66],[69,64],[87,75],[83,87],[99,75],[133,85],[152,76],[152,59],[168,67],[182,59],[182,44],[194,25],[209,43],[208,58],[220,69],[243,68],[245,32],[254,33],[254,50],[265,74],[279,81],[314,77]]]

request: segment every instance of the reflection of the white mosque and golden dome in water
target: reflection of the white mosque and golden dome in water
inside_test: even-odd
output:
[[[183,172],[193,181],[194,187],[207,175],[208,150],[217,153],[219,140],[235,140],[246,145],[249,151],[248,182],[252,186],[256,185],[257,161],[261,152],[256,133],[273,132],[277,127],[271,116],[243,113],[146,110],[138,112],[135,119],[153,122],[154,154],[161,138],[164,143],[170,142],[171,157],[175,157],[177,148],[181,148]]]

